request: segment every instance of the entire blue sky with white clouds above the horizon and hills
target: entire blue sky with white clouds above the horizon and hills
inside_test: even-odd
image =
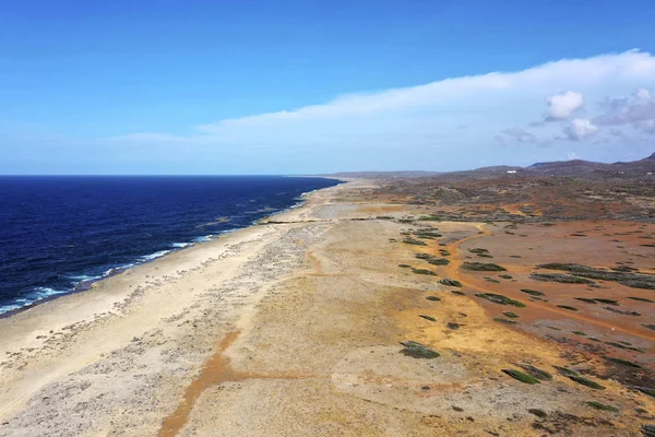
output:
[[[634,160],[655,151],[648,16],[639,0],[0,0],[0,174]]]

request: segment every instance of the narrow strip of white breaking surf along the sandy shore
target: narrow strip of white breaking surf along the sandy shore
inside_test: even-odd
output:
[[[284,177],[306,177],[306,176],[284,176]],[[332,187],[337,187],[337,186],[340,186],[342,184],[346,184],[347,182],[347,180],[344,180],[343,178],[333,178],[333,177],[324,177],[324,176],[307,176],[307,177],[315,177],[315,178],[321,178],[321,179],[333,179],[333,180],[340,181],[340,184],[336,184],[336,185],[334,185]],[[55,291],[53,288],[50,288],[48,286],[43,286],[43,288],[50,288],[50,290],[53,290],[57,293],[52,293],[52,294],[50,294],[48,296],[45,296],[45,297],[39,298],[39,299],[36,299],[36,300],[34,300],[34,302],[32,302],[29,304],[26,304],[24,306],[21,306],[19,308],[14,308],[14,309],[10,309],[10,310],[4,311],[4,312],[0,312],[0,320],[7,319],[7,318],[11,318],[11,317],[13,317],[15,315],[19,315],[19,314],[23,312],[23,311],[26,311],[28,309],[35,308],[35,307],[37,307],[39,305],[46,304],[48,302],[56,300],[56,299],[64,297],[64,296],[88,292],[88,291],[91,291],[93,288],[93,286],[95,284],[97,284],[97,283],[99,283],[102,281],[105,281],[105,280],[107,280],[109,277],[112,277],[112,276],[115,276],[117,274],[121,274],[121,273],[123,273],[126,271],[134,269],[134,268],[136,268],[139,265],[148,264],[148,263],[155,262],[155,261],[157,261],[159,259],[163,259],[163,258],[165,258],[167,256],[170,256],[172,253],[177,253],[177,252],[179,252],[181,250],[190,249],[192,247],[196,247],[196,246],[202,245],[202,244],[207,244],[207,243],[215,241],[215,240],[224,237],[225,235],[229,235],[229,234],[239,232],[241,229],[247,229],[247,228],[249,228],[251,226],[258,226],[262,221],[269,220],[269,218],[271,218],[271,217],[273,217],[275,215],[284,214],[284,213],[286,213],[288,211],[291,211],[294,209],[301,208],[307,202],[307,199],[306,199],[307,196],[311,194],[312,192],[320,191],[320,190],[325,190],[325,189],[329,189],[329,188],[332,188],[332,187],[319,188],[319,189],[315,189],[315,190],[302,192],[300,196],[298,196],[297,198],[294,199],[296,201],[296,203],[294,203],[293,205],[287,206],[287,208],[282,209],[282,210],[278,210],[278,211],[272,213],[271,215],[265,215],[265,216],[263,216],[261,218],[257,218],[257,220],[252,221],[247,226],[233,227],[233,228],[229,228],[229,229],[226,229],[226,231],[221,231],[216,235],[200,236],[200,237],[196,237],[193,241],[184,241],[184,243],[182,243],[184,246],[181,246],[181,247],[174,246],[174,245],[178,244],[177,241],[170,243],[170,245],[169,245],[170,248],[162,250],[162,251],[166,251],[166,253],[164,253],[162,256],[158,256],[158,257],[155,257],[155,258],[152,258],[152,259],[147,259],[147,257],[152,257],[152,256],[154,256],[154,255],[156,255],[156,253],[158,253],[160,251],[157,251],[157,252],[154,252],[154,253],[148,253],[148,255],[143,255],[143,256],[138,256],[133,261],[129,262],[128,264],[126,264],[126,265],[119,265],[119,267],[115,267],[115,268],[110,268],[110,269],[107,270],[107,272],[105,272],[103,275],[100,275],[98,277],[94,277],[94,279],[85,280],[85,281],[79,281],[76,283],[73,282],[73,286],[70,290]],[[203,238],[203,239],[201,239],[201,238]],[[204,239],[204,238],[207,238],[207,239]],[[198,240],[198,239],[201,239],[201,240]],[[85,275],[85,274],[82,273],[81,275]],[[5,306],[11,306],[11,305],[12,304],[7,304]]]

